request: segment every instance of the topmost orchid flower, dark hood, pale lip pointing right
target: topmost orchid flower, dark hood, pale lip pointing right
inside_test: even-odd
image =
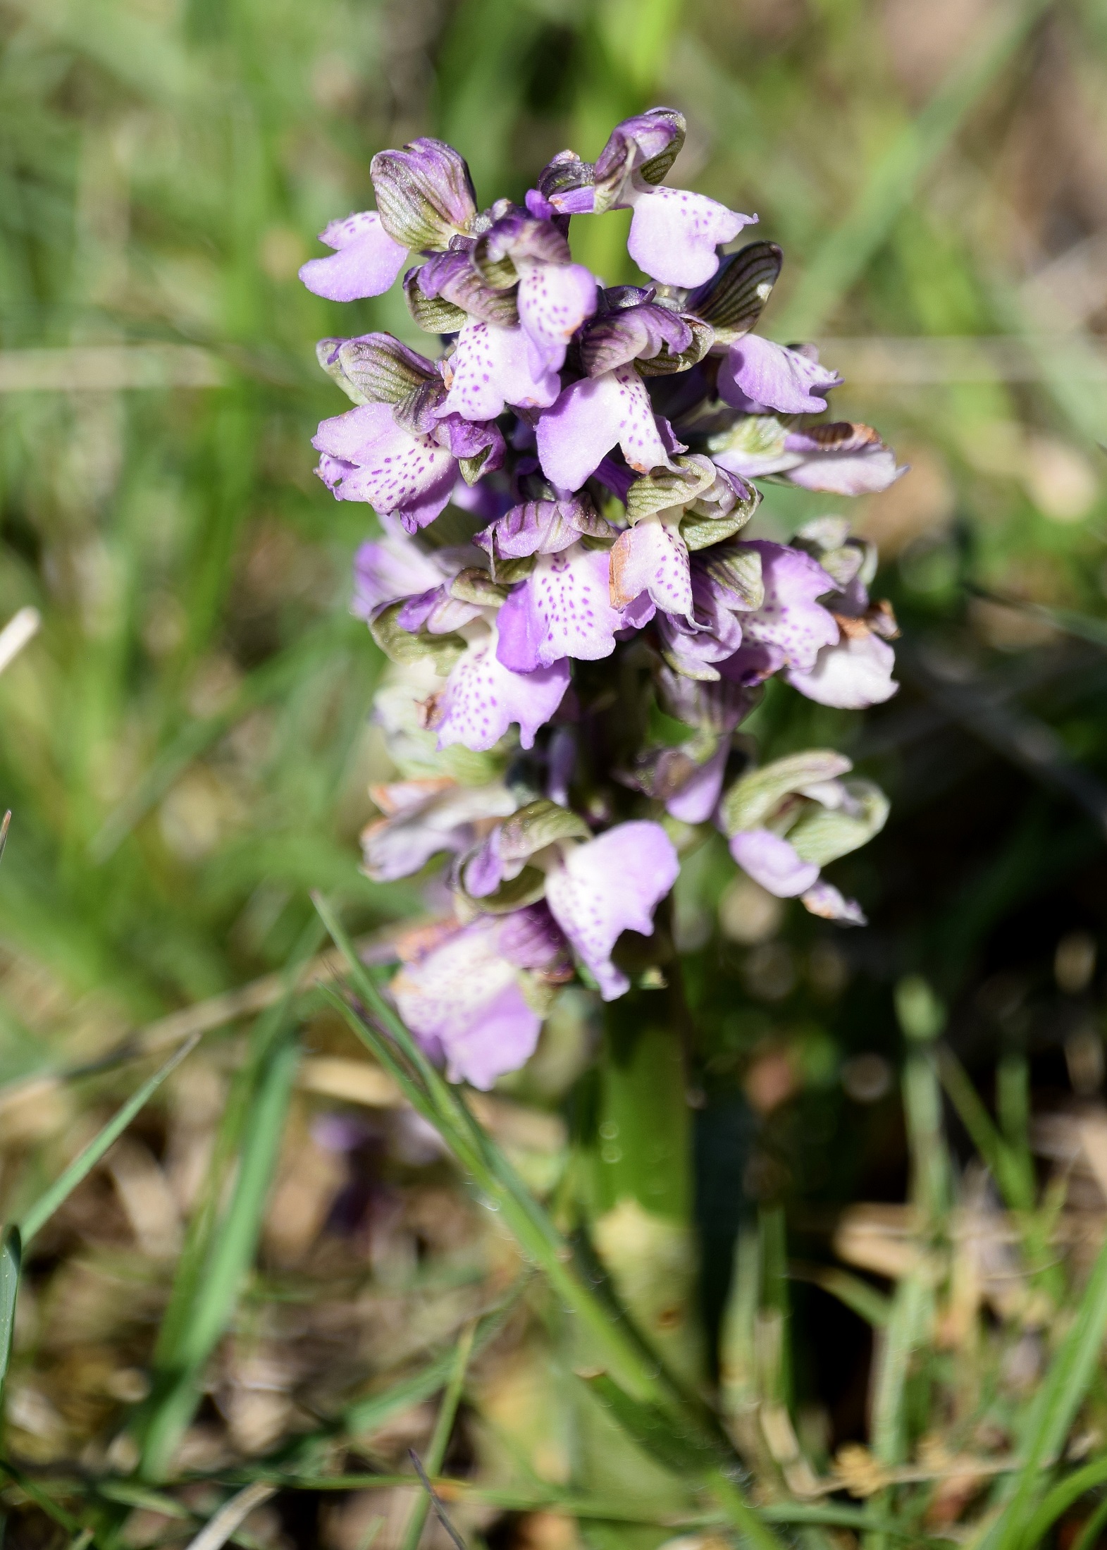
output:
[[[660,186],[684,136],[684,115],[674,108],[626,118],[612,129],[594,167],[572,152],[555,157],[527,205],[569,215],[633,209],[626,248],[639,268],[662,285],[702,285],[719,265],[716,248],[757,215],[740,215],[704,194]]]

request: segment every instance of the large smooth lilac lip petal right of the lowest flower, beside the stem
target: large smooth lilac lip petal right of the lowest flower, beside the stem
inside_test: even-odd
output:
[[[572,947],[614,1001],[629,980],[611,963],[622,932],[653,935],[653,911],[676,882],[681,863],[659,823],[620,823],[574,845],[546,879],[546,902]]]

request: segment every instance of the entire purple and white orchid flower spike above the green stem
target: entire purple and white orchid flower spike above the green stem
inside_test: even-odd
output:
[[[682,141],[654,108],[594,164],[557,155],[526,206],[479,211],[462,157],[417,140],[374,158],[377,209],[327,226],[333,254],[301,270],[352,301],[411,260],[411,316],[445,341],[324,339],[353,408],[315,446],[335,496],[378,513],[353,608],[409,680],[377,702],[403,778],[374,794],[366,871],[450,857],[453,913],[412,933],[392,994],[478,1087],[529,1057],[566,980],[629,989],[616,944],[653,935],[691,826],[848,924],[820,870],[885,817],[837,753],[754,767],[732,741],[772,674],[823,705],[896,688],[871,546],[837,516],[744,541],[757,480],[842,496],[902,470],[868,426],[817,418],[840,378],[814,349],[752,332],[780,250],[719,254],[757,217],[665,183]],[[650,284],[574,262],[572,215],[609,209],[633,211]]]

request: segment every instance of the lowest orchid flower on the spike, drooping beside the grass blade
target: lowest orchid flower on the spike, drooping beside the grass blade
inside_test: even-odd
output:
[[[487,1091],[535,1051],[541,1015],[526,972],[558,978],[564,938],[543,904],[462,925],[392,980],[400,1015],[451,1082]]]

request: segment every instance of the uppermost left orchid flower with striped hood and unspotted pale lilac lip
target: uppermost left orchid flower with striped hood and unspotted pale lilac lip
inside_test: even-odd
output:
[[[476,198],[468,167],[440,140],[412,140],[403,150],[372,160],[377,209],[332,220],[319,242],[333,257],[309,259],[299,277],[316,296],[357,301],[380,296],[395,281],[412,248],[445,248],[468,231]]]

